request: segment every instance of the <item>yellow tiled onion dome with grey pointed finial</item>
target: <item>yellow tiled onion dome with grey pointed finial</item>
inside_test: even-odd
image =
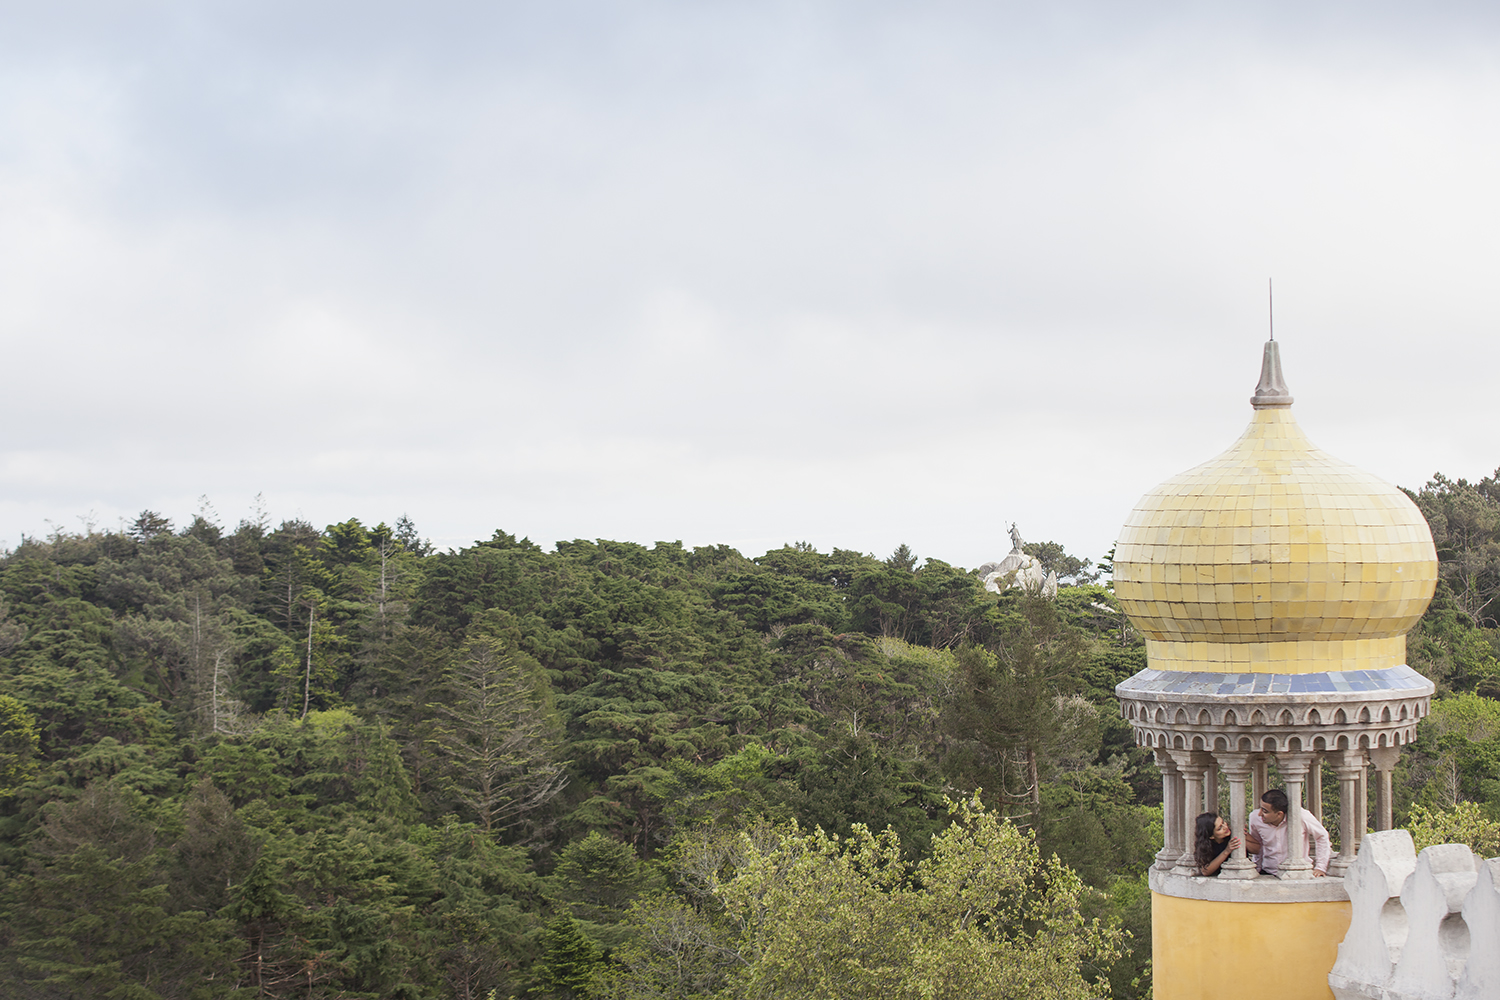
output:
[[[1270,345],[1268,372],[1274,364],[1280,384]],[[1406,633],[1437,583],[1426,520],[1401,490],[1316,448],[1284,385],[1254,402],[1228,451],[1146,493],[1125,522],[1114,594],[1150,666],[1311,673],[1406,663]]]

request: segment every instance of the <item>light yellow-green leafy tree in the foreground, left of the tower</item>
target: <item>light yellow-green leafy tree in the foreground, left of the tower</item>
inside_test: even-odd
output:
[[[638,945],[604,996],[1102,997],[1088,970],[1120,936],[1082,916],[1083,885],[978,801],[916,864],[900,838],[795,823],[738,835],[706,897],[630,912]],[[694,993],[690,993],[694,991]]]

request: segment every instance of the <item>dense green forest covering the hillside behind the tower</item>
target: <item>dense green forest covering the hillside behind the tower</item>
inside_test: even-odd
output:
[[[1440,699],[1398,819],[1484,840],[1500,487],[1413,498]],[[1054,600],[904,546],[440,553],[405,517],[152,511],[26,538],[0,993],[1149,996],[1161,789],[1113,699],[1144,648],[1088,561],[1028,549]]]

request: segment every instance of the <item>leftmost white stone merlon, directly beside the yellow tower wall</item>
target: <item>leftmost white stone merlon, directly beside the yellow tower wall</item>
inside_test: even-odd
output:
[[[1348,891],[1348,934],[1338,946],[1338,961],[1328,982],[1340,997],[1371,996],[1383,987],[1401,957],[1404,927],[1386,927],[1386,903],[1416,868],[1416,849],[1407,831],[1365,834],[1359,856],[1344,874]],[[1388,937],[1395,931],[1398,940]]]

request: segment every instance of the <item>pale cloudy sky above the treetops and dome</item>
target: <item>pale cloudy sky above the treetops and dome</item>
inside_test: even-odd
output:
[[[0,541],[1098,558],[1268,277],[1312,441],[1486,475],[1500,15],[1413,9],[0,3]]]

